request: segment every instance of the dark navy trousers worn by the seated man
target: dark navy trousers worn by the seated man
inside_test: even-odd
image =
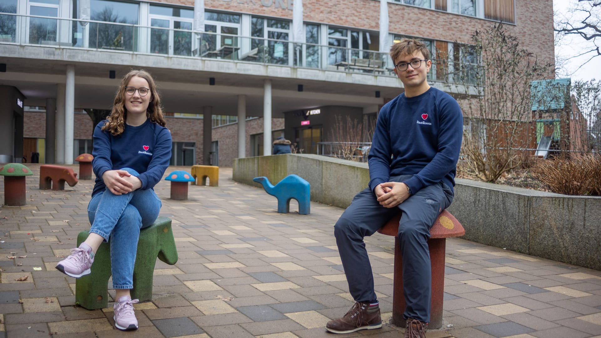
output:
[[[411,175],[391,177],[389,182],[404,182]],[[410,195],[397,207],[386,208],[376,200],[370,188],[359,192],[334,226],[334,235],[350,294],[355,301],[376,300],[370,260],[365,249],[365,236],[371,236],[398,214],[398,241],[403,257],[403,317],[430,322],[432,275],[427,241],[430,228],[442,210],[453,201],[453,191],[445,183],[426,186]]]

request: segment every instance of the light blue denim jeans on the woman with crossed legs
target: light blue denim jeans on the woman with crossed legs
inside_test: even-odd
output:
[[[131,168],[121,170],[133,176],[139,175]],[[106,189],[90,200],[90,233],[97,233],[105,242],[111,238],[111,272],[115,289],[133,289],[133,265],[140,229],[154,223],[161,205],[153,189],[138,189],[121,195]]]

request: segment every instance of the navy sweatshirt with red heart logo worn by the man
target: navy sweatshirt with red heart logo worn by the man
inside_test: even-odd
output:
[[[444,91],[430,87],[418,96],[395,97],[380,109],[371,141],[371,191],[407,174],[413,175],[404,181],[412,194],[441,181],[453,189],[462,134],[459,104]]]

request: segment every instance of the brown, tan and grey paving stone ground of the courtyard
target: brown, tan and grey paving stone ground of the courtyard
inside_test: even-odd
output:
[[[0,338],[403,336],[389,324],[392,237],[366,239],[385,325],[326,333],[326,322],[353,305],[333,235],[343,209],[311,202],[311,214],[299,215],[293,202],[278,214],[275,197],[234,182],[231,168],[220,168],[219,187],[189,186],[186,201],[169,199],[169,182],[156,186],[179,260],[157,260],[153,300],[135,306],[139,329],[118,331],[112,303],[76,306],[75,278],[54,268],[90,228],[93,181],[40,191],[39,165],[28,167],[27,205],[0,208]],[[0,191],[3,202],[4,182]],[[601,337],[600,271],[459,238],[447,240],[446,264],[444,325],[428,338]]]

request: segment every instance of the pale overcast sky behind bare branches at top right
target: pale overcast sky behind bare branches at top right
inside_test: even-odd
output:
[[[568,13],[569,8],[575,7],[577,0],[553,0],[553,10],[559,11],[560,13]],[[555,46],[555,55],[560,57],[570,57],[572,55],[578,55],[584,51],[587,51],[588,45],[583,38],[573,37],[570,41],[568,38],[565,38],[562,41],[561,46]],[[585,63],[593,53],[583,55],[578,58],[573,58],[569,60],[566,64],[566,70],[569,73],[575,72],[576,69],[582,64]],[[561,76],[564,77],[564,76]],[[572,80],[590,80],[597,79],[601,80],[601,56],[593,58],[593,60],[589,61],[585,66],[582,66],[581,69],[577,70],[571,76]]]

